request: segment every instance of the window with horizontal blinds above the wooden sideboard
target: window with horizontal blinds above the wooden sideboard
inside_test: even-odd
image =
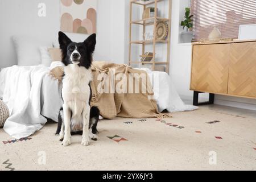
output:
[[[241,24],[256,23],[256,0],[191,0],[191,10],[194,42],[207,39],[213,26],[222,38],[237,39]]]

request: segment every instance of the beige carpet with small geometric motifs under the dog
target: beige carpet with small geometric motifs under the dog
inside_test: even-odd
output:
[[[232,109],[223,111],[217,106],[172,115],[164,119],[172,126],[156,119],[103,120],[98,124],[98,141],[88,147],[81,146],[81,136],[72,137],[71,146],[61,146],[54,135],[56,123],[47,124],[30,140],[6,144],[2,141],[11,138],[0,129],[0,170],[256,169],[253,116],[237,115]],[[206,123],[210,121],[220,122]],[[108,138],[114,135],[119,138]],[[9,168],[7,163],[11,164]]]

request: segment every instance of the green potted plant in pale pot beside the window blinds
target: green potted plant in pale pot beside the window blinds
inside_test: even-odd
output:
[[[192,41],[192,27],[193,27],[193,15],[190,14],[190,8],[185,8],[185,20],[181,21],[180,26],[183,26],[183,30],[185,31],[181,32],[181,38],[183,39],[184,43],[191,42]]]

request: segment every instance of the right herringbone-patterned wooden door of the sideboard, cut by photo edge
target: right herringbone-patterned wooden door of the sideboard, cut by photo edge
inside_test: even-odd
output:
[[[256,97],[256,42],[231,45],[228,93]]]

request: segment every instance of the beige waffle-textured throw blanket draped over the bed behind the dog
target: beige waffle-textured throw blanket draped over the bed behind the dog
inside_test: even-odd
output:
[[[52,75],[58,77],[61,75],[60,69],[55,68],[51,71]],[[105,61],[94,61],[92,65],[93,81],[91,82],[92,88],[92,101],[91,106],[97,106],[100,109],[100,114],[104,118],[113,119],[115,117],[124,118],[164,118],[170,117],[168,114],[160,114],[155,100],[150,100],[154,93],[147,73],[133,69],[125,64],[114,64]],[[125,75],[125,79],[119,78],[118,75]],[[139,88],[139,93],[130,93],[128,90],[129,74],[144,75],[146,80],[139,77],[133,77],[133,91]],[[106,78],[107,77],[107,78]],[[113,79],[115,77],[115,79]],[[103,84],[105,83],[105,85]],[[109,83],[106,85],[106,83]],[[115,88],[121,88],[127,92],[117,93]],[[142,92],[143,88],[146,92]],[[105,90],[103,92],[102,90]]]

